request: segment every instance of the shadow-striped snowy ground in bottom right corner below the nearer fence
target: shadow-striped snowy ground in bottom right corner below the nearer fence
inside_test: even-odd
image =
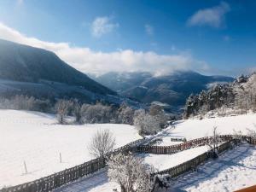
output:
[[[189,192],[229,192],[256,184],[256,147],[242,145],[177,178],[173,188]],[[176,191],[176,190],[171,190]]]

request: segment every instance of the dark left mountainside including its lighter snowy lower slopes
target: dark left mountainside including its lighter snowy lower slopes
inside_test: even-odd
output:
[[[123,102],[124,97],[90,79],[45,49],[0,39],[0,94]],[[128,100],[128,102],[133,102]]]

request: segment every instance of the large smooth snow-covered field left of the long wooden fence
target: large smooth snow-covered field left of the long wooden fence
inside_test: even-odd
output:
[[[87,146],[98,129],[113,132],[116,148],[141,138],[131,125],[56,125],[51,114],[0,110],[0,189],[93,159]]]

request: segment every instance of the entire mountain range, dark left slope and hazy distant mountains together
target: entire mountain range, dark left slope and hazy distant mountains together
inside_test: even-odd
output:
[[[211,84],[233,80],[192,71],[160,77],[140,72],[106,73],[89,78],[53,52],[0,39],[0,94],[5,95],[128,102],[134,106],[157,102],[179,108],[191,93],[197,94]]]

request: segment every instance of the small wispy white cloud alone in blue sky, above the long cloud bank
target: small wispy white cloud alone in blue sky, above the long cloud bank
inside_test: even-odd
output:
[[[119,26],[119,23],[111,22],[110,17],[96,17],[91,24],[91,34],[96,37],[100,38],[102,35],[113,32]]]

